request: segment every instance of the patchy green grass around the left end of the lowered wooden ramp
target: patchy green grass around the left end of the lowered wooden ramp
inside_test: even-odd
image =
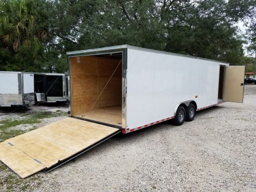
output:
[[[0,120],[0,142],[9,139],[11,137],[26,133],[28,131],[37,129],[37,126],[33,126],[35,123],[40,123],[42,119],[67,116],[65,112],[49,112],[49,111],[39,111],[32,113],[21,114],[20,118],[16,119],[5,119]],[[27,129],[22,130],[19,127],[12,128],[18,125],[32,125],[27,127]],[[26,128],[26,127],[25,127]],[[33,175],[26,179],[21,179],[18,175],[13,173],[4,163],[0,161],[0,191],[28,191],[40,186],[42,180],[39,176]]]

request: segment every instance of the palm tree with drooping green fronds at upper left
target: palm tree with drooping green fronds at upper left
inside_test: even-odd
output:
[[[0,38],[18,52],[20,45],[33,45],[37,12],[33,0],[2,0],[0,3]]]

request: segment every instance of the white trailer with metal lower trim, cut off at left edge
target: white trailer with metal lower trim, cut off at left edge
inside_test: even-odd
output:
[[[34,75],[25,72],[0,72],[0,107],[34,104]]]

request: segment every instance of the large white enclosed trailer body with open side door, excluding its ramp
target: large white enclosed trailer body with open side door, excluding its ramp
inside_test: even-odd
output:
[[[244,66],[128,45],[67,55],[70,116],[123,133],[243,100]]]

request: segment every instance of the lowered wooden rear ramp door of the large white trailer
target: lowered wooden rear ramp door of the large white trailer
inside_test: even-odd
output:
[[[66,118],[0,143],[0,160],[22,178],[81,154],[120,129]]]

